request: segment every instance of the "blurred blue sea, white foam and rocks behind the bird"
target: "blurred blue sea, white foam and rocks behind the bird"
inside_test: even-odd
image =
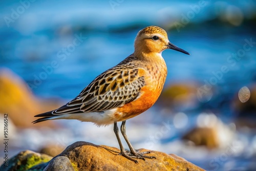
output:
[[[132,54],[137,32],[156,25],[191,55],[162,53],[159,100],[127,121],[134,147],[207,170],[256,169],[255,1],[24,0],[0,9],[0,137],[7,113],[9,157],[24,149],[55,156],[76,141],[118,147],[113,125],[31,122]]]

